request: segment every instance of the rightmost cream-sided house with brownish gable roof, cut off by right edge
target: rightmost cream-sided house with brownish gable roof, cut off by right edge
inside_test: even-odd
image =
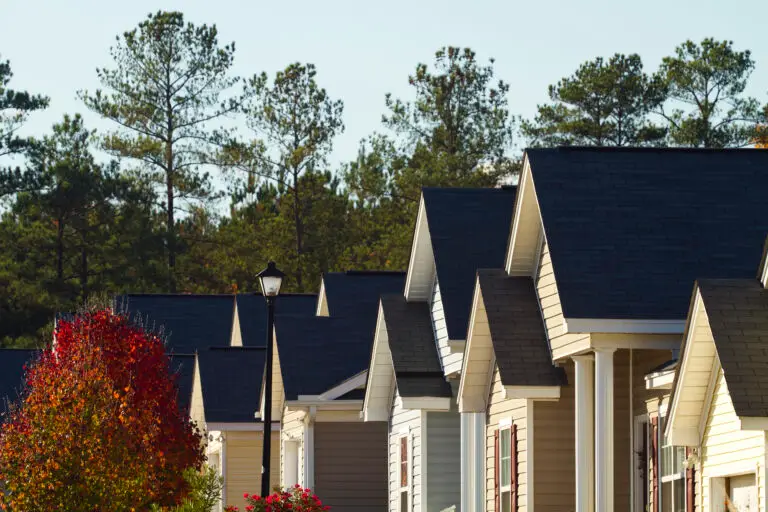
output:
[[[701,512],[728,510],[729,502],[739,511],[766,510],[766,284],[764,257],[757,279],[694,286],[668,409],[658,420],[663,462],[654,498],[661,503],[693,498]],[[667,460],[688,478],[667,482]]]

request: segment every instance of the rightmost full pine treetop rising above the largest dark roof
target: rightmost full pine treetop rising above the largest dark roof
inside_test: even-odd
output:
[[[749,50],[736,51],[732,41],[712,38],[700,44],[688,40],[665,57],[659,77],[672,108],[661,114],[671,142],[705,148],[751,144],[765,119],[757,100],[744,95],[754,67]]]

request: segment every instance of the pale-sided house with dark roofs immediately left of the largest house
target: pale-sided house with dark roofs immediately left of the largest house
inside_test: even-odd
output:
[[[474,280],[503,263],[515,188],[422,192],[404,293],[379,306],[363,417],[389,430],[389,510],[465,509],[456,407]]]

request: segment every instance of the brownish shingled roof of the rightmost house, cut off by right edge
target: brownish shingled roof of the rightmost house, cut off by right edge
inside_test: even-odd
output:
[[[768,290],[754,279],[698,287],[736,414],[768,417]]]

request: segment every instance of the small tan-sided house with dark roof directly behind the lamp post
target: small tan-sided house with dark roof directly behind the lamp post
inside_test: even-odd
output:
[[[190,414],[207,437],[208,465],[222,478],[223,506],[243,508],[243,493],[261,489],[264,425],[254,415],[265,353],[263,347],[212,347],[197,354]],[[271,436],[270,482],[279,485],[279,423]]]

